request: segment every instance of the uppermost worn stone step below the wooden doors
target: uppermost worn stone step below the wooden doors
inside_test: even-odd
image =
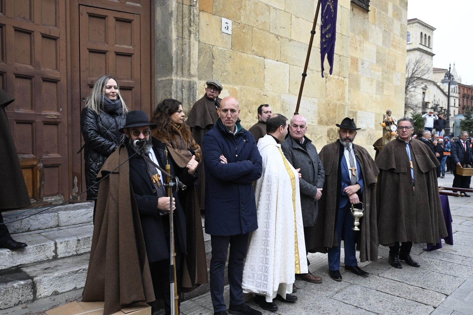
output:
[[[22,210],[9,211],[3,213],[3,219],[6,222],[10,233],[21,233],[89,223],[92,222],[94,203],[84,202],[78,204],[64,204],[50,210],[43,210],[44,209],[31,209],[26,213],[22,213]],[[27,218],[29,215],[34,213],[37,214]],[[18,219],[22,220],[16,221]],[[8,223],[10,221],[15,222]]]

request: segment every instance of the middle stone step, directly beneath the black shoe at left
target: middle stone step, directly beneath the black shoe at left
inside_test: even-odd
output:
[[[0,248],[0,270],[88,253],[93,230],[91,223],[83,223],[12,234],[15,240],[25,242],[28,246],[15,251]]]

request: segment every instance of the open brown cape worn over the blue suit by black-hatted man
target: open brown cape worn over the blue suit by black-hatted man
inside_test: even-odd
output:
[[[338,246],[336,221],[341,195],[341,170],[340,159],[342,151],[341,144],[337,140],[325,145],[319,153],[320,160],[324,165],[325,182],[322,198],[319,201],[319,216],[315,222],[311,237],[311,250],[309,252],[327,253],[328,247]],[[378,232],[376,213],[376,175],[378,168],[368,151],[353,144],[355,156],[358,160],[363,174],[364,191],[361,202],[365,212],[360,219],[357,233],[357,250],[360,251],[361,262],[378,260]],[[343,238],[343,235],[342,235]]]

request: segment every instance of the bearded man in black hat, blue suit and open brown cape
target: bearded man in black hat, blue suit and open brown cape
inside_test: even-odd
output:
[[[325,145],[319,154],[325,182],[311,251],[328,252],[330,277],[342,281],[339,270],[342,235],[345,271],[368,277],[368,272],[358,267],[356,249],[360,251],[360,262],[378,259],[375,179],[378,168],[365,148],[353,144],[360,129],[354,120],[346,117],[336,126],[340,128],[339,139]],[[352,206],[364,208],[359,221],[360,231],[352,230]]]

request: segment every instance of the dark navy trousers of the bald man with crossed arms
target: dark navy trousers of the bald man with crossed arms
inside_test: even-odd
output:
[[[230,285],[230,305],[243,304],[243,263],[248,251],[248,238],[250,234],[231,236],[211,235],[212,258],[210,259],[210,298],[212,298],[214,312],[227,310],[223,299],[225,286],[225,262],[227,261],[228,245],[228,284]]]

